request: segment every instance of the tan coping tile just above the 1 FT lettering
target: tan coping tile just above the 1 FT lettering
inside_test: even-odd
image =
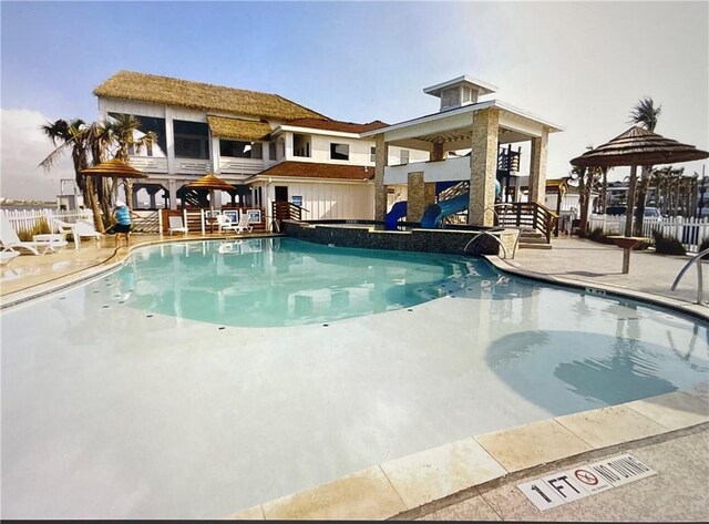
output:
[[[475,436],[510,473],[592,451],[554,419]]]

